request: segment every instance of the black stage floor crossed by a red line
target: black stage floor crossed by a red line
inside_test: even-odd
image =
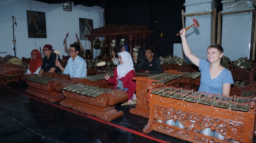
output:
[[[144,134],[148,118],[129,113],[135,105],[116,105],[123,116],[105,122],[28,95],[26,88],[0,86],[0,143],[189,143],[156,131]]]

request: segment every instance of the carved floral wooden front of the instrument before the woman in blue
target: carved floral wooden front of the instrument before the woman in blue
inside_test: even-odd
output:
[[[151,95],[149,122],[143,129],[146,134],[155,130],[194,143],[229,143],[231,140],[252,143],[253,141],[255,95],[251,97],[248,112]],[[212,135],[203,132],[208,129]],[[215,134],[220,134],[221,137],[214,136]]]

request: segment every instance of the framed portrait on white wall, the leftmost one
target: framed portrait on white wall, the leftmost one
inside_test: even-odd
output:
[[[27,31],[29,38],[47,38],[44,12],[27,10]]]

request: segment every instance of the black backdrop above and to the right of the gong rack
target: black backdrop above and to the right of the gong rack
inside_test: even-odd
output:
[[[217,11],[222,9],[220,2],[218,0]],[[148,36],[146,47],[154,46],[157,57],[173,55],[173,44],[181,43],[176,34],[182,29],[184,3],[185,0],[106,0],[105,25],[145,25],[154,31],[151,38]],[[163,33],[162,38],[155,21]]]

